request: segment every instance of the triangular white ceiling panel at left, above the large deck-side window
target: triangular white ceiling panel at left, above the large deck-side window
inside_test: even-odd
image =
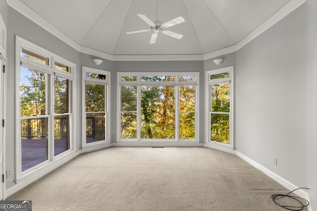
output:
[[[80,43],[111,0],[21,0],[75,42]]]

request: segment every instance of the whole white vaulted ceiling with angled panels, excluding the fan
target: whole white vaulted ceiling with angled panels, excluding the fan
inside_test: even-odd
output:
[[[70,45],[110,57],[206,55],[236,46],[268,21],[270,26],[274,24],[278,21],[272,20],[275,16],[282,18],[301,2],[303,0],[7,0],[8,5]],[[182,16],[185,22],[168,28],[183,35],[182,39],[159,33],[156,43],[150,44],[153,31],[127,35],[129,31],[150,29],[137,14],[161,23]],[[264,26],[263,31],[266,28]]]

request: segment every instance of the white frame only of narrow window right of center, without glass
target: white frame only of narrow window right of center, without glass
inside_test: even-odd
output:
[[[211,79],[211,75],[230,72],[226,78]],[[229,112],[212,112],[211,111],[211,85],[213,84],[230,84],[230,111]],[[205,82],[205,143],[216,144],[226,148],[234,149],[234,66],[206,71]],[[229,114],[229,144],[211,140],[211,113]]]

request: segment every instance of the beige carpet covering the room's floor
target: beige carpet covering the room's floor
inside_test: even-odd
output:
[[[7,200],[32,200],[32,211],[285,211],[270,196],[288,192],[217,150],[114,147],[82,154]]]

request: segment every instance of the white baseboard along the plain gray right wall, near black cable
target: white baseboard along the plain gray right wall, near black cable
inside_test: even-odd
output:
[[[262,166],[261,164],[255,162],[251,158],[245,156],[244,154],[242,154],[242,153],[237,151],[236,155],[238,157],[240,157],[241,159],[245,160],[246,162],[248,162],[249,164],[251,164],[252,166],[254,166],[255,168],[257,168],[257,169],[261,170],[262,172],[264,172],[266,175],[268,175],[269,177],[274,179],[279,184],[283,185],[288,190],[292,191],[292,190],[295,190],[295,189],[299,188],[296,185],[294,185],[293,183],[287,181],[283,177],[281,177],[278,174],[274,173],[273,171],[265,168],[264,166]],[[309,201],[309,194],[306,191],[304,191],[303,189],[296,190],[296,191],[294,191],[294,193],[297,194],[298,196],[302,197],[303,199],[306,199],[307,201]],[[308,210],[312,211],[311,206],[308,206]]]

